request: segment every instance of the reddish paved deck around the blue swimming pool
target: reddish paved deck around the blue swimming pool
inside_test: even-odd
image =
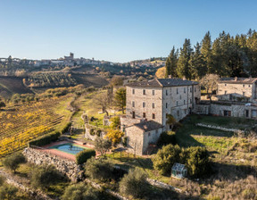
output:
[[[70,161],[76,161],[75,154],[68,154],[68,153],[59,151],[57,149],[49,148],[51,146],[59,146],[59,145],[67,144],[67,143],[73,143],[73,144],[76,144],[76,145],[79,145],[79,146],[84,146],[84,147],[87,147],[87,148],[94,149],[94,146],[89,145],[89,144],[82,145],[81,142],[76,142],[76,141],[71,141],[71,140],[64,140],[64,141],[54,142],[54,143],[51,143],[51,144],[46,145],[46,146],[42,146],[44,149],[40,149],[40,151],[46,152],[48,154],[54,154],[54,155],[60,156],[64,159],[68,159]]]

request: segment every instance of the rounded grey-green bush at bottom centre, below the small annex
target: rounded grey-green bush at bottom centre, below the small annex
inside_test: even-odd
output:
[[[120,193],[126,196],[133,196],[134,198],[145,196],[145,193],[148,191],[146,178],[145,171],[139,168],[129,170],[129,173],[125,174],[120,180]]]

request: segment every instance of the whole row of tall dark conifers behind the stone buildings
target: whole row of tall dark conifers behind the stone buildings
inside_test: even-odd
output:
[[[173,46],[166,60],[165,77],[202,79],[206,74],[220,77],[257,76],[257,32],[231,36],[222,31],[211,40],[208,31],[194,48],[189,38],[178,50]]]

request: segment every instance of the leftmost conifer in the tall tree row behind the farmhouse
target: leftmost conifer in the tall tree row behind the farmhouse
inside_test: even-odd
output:
[[[175,46],[172,47],[170,55],[165,63],[165,78],[168,78],[170,75],[172,78],[178,77],[177,74],[177,64],[178,64],[178,51],[175,50]]]

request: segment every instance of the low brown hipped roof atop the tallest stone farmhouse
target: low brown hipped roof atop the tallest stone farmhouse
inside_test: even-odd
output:
[[[151,79],[127,84],[129,87],[175,87],[197,85],[198,82],[187,79]]]

